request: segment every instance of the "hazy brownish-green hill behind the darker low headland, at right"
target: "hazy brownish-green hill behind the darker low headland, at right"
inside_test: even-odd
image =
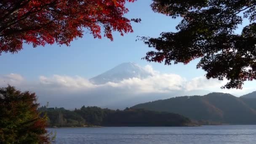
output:
[[[256,99],[238,98],[227,93],[181,96],[138,104],[132,108],[173,112],[198,121],[256,124]]]

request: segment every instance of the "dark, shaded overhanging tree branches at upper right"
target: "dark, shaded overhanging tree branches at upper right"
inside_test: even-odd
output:
[[[208,79],[229,80],[222,88],[242,88],[245,81],[256,79],[255,0],[153,0],[151,7],[182,20],[177,32],[141,37],[155,48],[143,59],[168,65],[200,59],[197,68]],[[237,34],[244,19],[249,24]]]

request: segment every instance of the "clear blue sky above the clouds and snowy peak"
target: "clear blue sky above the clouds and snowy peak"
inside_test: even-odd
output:
[[[180,19],[171,19],[165,15],[154,13],[151,0],[138,0],[128,3],[130,12],[128,18],[141,18],[139,24],[133,23],[134,32],[120,36],[114,33],[114,41],[106,38],[94,39],[90,34],[74,40],[69,47],[62,45],[45,45],[45,47],[32,48],[24,45],[19,53],[2,53],[0,56],[0,75],[10,73],[19,74],[26,80],[38,80],[39,76],[51,77],[52,75],[80,76],[91,78],[115,67],[123,62],[135,62],[141,66],[152,65],[154,70],[161,73],[173,73],[191,80],[201,77],[205,72],[196,69],[197,60],[184,66],[177,64],[166,66],[159,63],[148,63],[141,60],[146,52],[151,50],[141,41],[136,41],[137,36],[158,37],[161,32],[176,31],[175,26]],[[245,21],[247,24],[248,21]],[[237,32],[240,32],[238,29]],[[245,87],[253,87],[255,82],[246,83]]]

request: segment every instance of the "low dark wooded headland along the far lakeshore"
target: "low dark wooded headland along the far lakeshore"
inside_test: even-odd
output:
[[[154,112],[144,109],[111,110],[100,107],[81,107],[74,111],[64,108],[38,109],[48,116],[48,126],[184,126],[190,123],[187,117],[170,112]]]

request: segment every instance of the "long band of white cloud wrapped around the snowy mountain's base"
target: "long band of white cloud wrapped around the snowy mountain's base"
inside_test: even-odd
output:
[[[39,102],[46,104],[46,101],[49,101],[53,107],[66,108],[82,105],[125,108],[140,102],[173,96],[207,94],[210,91],[242,95],[252,90],[251,88],[221,90],[220,87],[227,82],[226,80],[207,80],[205,77],[187,80],[176,74],[161,74],[149,65],[145,69],[152,75],[147,78],[133,77],[118,83],[108,82],[103,85],[95,85],[80,76],[40,76],[39,80],[27,81],[19,74],[9,74],[0,76],[0,86],[5,87],[10,84],[22,91],[33,91],[37,93]]]

